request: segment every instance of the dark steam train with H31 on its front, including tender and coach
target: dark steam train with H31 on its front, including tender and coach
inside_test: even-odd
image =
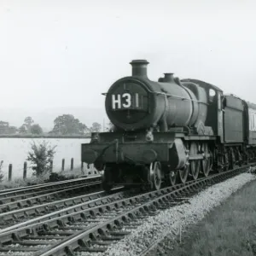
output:
[[[113,128],[81,146],[82,161],[104,170],[103,189],[160,189],[255,160],[256,105],[172,73],[152,81],[148,61],[130,64],[132,75],[103,94]]]

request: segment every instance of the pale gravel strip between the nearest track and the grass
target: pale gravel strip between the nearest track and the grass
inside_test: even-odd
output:
[[[161,211],[157,216],[149,217],[143,224],[133,230],[129,236],[122,241],[113,244],[105,253],[78,253],[78,255],[97,256],[136,256],[146,247],[149,247],[160,237],[168,235],[169,239],[175,239],[180,229],[185,229],[189,224],[195,224],[205,217],[213,207],[217,207],[230,195],[241,189],[246,183],[256,179],[250,173],[243,173],[239,176],[218,183],[195,195],[187,203]]]

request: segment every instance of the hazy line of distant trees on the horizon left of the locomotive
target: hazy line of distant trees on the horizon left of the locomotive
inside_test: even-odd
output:
[[[107,125],[107,130],[110,127]],[[102,125],[95,122],[90,127],[84,125],[79,119],[74,118],[72,114],[63,114],[55,118],[54,127],[49,132],[44,132],[42,127],[34,122],[32,117],[24,119],[20,127],[9,125],[9,122],[0,121],[0,134],[51,134],[51,135],[87,135],[90,132],[102,131]]]

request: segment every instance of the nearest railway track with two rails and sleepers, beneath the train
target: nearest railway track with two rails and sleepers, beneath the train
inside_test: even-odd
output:
[[[113,198],[105,203],[99,200],[101,205],[80,206],[72,212],[53,212],[9,227],[0,233],[1,255],[7,252],[37,256],[104,252],[114,241],[137,228],[143,218],[177,206],[207,186],[246,172],[247,167],[131,197],[120,198],[118,193],[113,194]]]

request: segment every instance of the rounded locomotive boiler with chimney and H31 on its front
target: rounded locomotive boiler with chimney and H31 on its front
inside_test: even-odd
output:
[[[150,81],[147,65],[148,61],[131,61],[132,76],[119,79],[108,90],[106,111],[113,125],[124,131],[168,131],[172,126],[204,124],[205,90],[193,83],[181,84],[172,73],[159,82]]]

